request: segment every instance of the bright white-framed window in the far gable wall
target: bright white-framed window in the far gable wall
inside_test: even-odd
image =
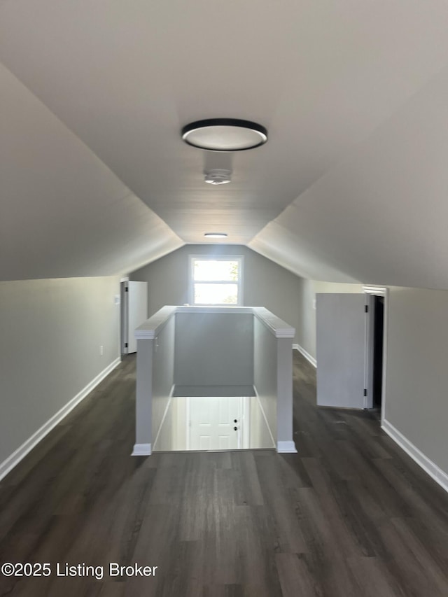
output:
[[[239,255],[190,255],[190,303],[243,303],[243,258]]]

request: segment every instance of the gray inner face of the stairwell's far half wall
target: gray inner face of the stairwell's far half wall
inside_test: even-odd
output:
[[[178,386],[251,386],[252,314],[177,313]]]

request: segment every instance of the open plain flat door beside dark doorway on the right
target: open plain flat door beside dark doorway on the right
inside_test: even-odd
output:
[[[365,408],[365,295],[316,295],[317,404]]]

